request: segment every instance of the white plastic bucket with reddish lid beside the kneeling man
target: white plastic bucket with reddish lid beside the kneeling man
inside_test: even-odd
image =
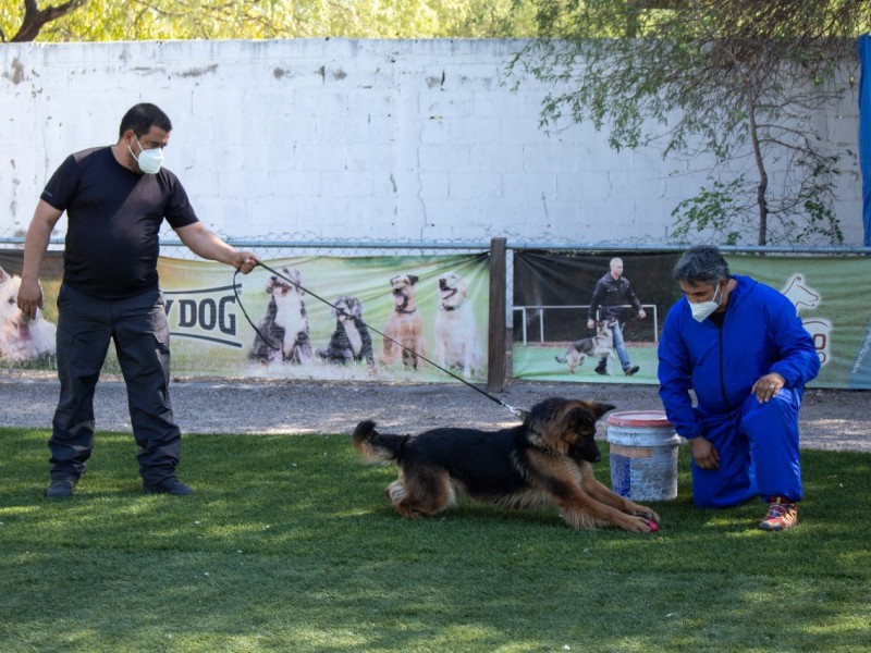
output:
[[[628,410],[608,418],[611,489],[633,501],[677,496],[680,436],[662,410]]]

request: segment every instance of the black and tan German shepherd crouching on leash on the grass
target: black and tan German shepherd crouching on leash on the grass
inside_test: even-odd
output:
[[[601,460],[596,422],[613,408],[554,397],[536,404],[514,428],[441,428],[418,435],[379,433],[367,420],[352,443],[366,460],[396,460],[400,477],[384,493],[403,517],[436,515],[466,495],[503,508],[556,507],[576,529],[648,533],[658,529],[659,515],[597,481],[590,465]]]

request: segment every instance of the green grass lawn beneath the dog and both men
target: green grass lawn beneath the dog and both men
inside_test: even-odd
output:
[[[3,651],[866,651],[871,456],[805,452],[799,526],[692,506],[658,533],[463,504],[405,520],[346,435],[186,435],[189,497],[99,434],[49,502],[48,433],[0,429]],[[608,445],[603,443],[603,453]],[[608,480],[605,459],[598,468]]]

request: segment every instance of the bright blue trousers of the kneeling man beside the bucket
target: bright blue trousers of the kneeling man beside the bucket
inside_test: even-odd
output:
[[[717,469],[692,461],[692,496],[701,507],[733,506],[752,496],[800,501],[800,393],[786,387],[762,404],[750,395],[728,415],[702,415],[704,436],[720,452]]]

